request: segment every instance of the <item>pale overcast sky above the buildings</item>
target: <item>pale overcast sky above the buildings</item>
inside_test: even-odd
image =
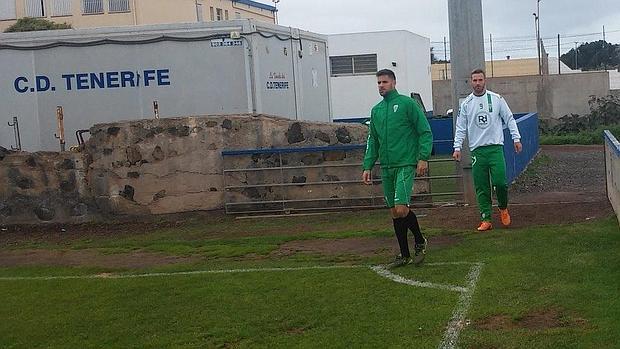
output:
[[[448,0],[280,0],[277,6],[281,25],[322,34],[409,30],[430,38],[440,58],[439,42],[448,37]],[[493,35],[494,57],[536,56],[536,0],[483,0],[482,11],[486,41]],[[603,25],[607,41],[620,43],[620,0],[540,2],[541,36],[549,38],[545,46],[552,57],[557,56],[557,34],[566,36],[565,53],[575,41],[602,39]],[[581,34],[590,35],[575,36]],[[488,44],[485,49],[488,56]]]

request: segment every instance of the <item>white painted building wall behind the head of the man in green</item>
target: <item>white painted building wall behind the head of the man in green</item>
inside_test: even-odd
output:
[[[329,55],[377,54],[377,68],[396,74],[401,94],[417,92],[428,111],[433,108],[430,39],[405,31],[329,35]],[[396,66],[392,65],[396,62]],[[381,97],[374,74],[331,77],[334,119],[366,117]]]

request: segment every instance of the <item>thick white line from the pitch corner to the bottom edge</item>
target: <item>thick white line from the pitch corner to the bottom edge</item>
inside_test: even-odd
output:
[[[474,264],[471,267],[469,274],[467,275],[467,287],[465,292],[461,292],[459,301],[452,313],[452,319],[448,323],[446,332],[444,333],[443,340],[439,344],[439,349],[455,349],[457,348],[457,342],[459,334],[465,326],[465,316],[471,306],[471,299],[476,290],[476,284],[480,279],[480,272],[482,271],[482,263]]]

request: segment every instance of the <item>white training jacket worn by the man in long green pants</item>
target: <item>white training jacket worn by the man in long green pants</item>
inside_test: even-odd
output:
[[[495,92],[486,91],[482,96],[473,93],[467,96],[456,118],[454,132],[454,150],[460,151],[465,135],[469,138],[469,149],[474,150],[485,145],[503,145],[504,130],[502,120],[512,135],[515,143],[521,141],[521,135],[508,104]]]

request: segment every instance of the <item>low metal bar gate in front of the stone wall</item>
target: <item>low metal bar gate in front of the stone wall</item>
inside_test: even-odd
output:
[[[361,181],[366,146],[339,145],[223,151],[228,214],[278,214],[385,207],[381,170]],[[413,206],[462,202],[452,158],[433,157],[415,179]]]

